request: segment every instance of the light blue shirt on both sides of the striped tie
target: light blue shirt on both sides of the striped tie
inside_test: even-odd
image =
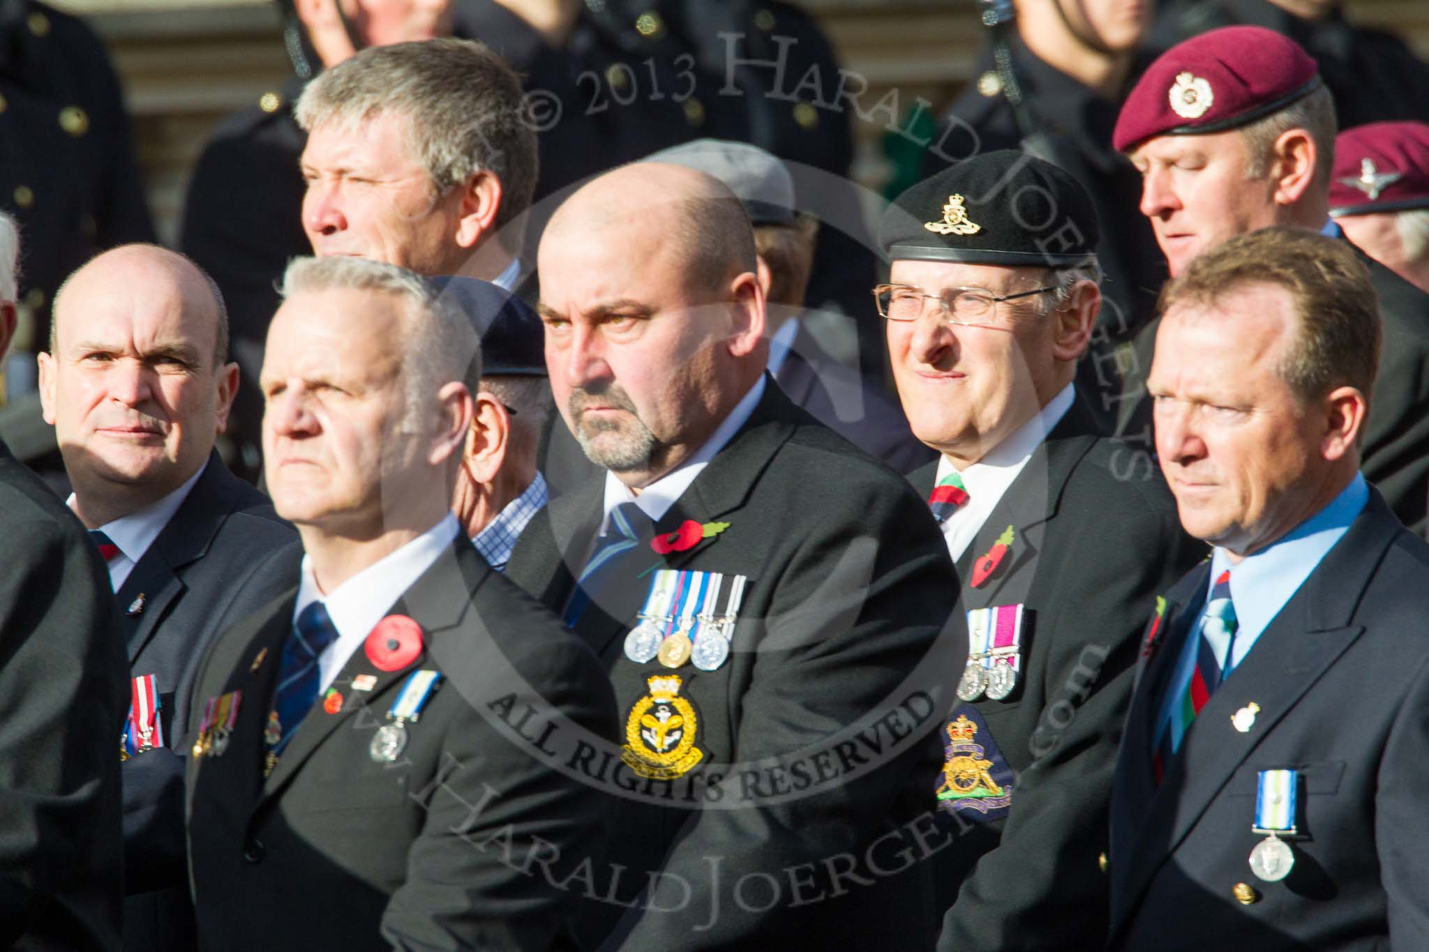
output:
[[[1329,505],[1300,522],[1282,538],[1265,547],[1255,555],[1248,555],[1239,565],[1232,565],[1223,548],[1216,548],[1210,555],[1210,574],[1206,578],[1206,601],[1210,601],[1210,589],[1216,579],[1226,569],[1230,569],[1230,604],[1236,609],[1236,635],[1230,645],[1230,672],[1236,669],[1255,642],[1275,617],[1280,614],[1286,602],[1295,597],[1305,579],[1316,569],[1325,555],[1340,541],[1349,524],[1355,521],[1369,501],[1369,485],[1359,472],[1350,480],[1340,494],[1330,500]],[[1196,651],[1200,647],[1200,625],[1206,617],[1206,607],[1192,627],[1192,637],[1186,638],[1180,658],[1176,662],[1176,674],[1170,681],[1170,691],[1162,698],[1160,716],[1156,718],[1156,732],[1153,742],[1160,739],[1166,722],[1172,716],[1172,709],[1179,707],[1186,695],[1186,687],[1196,671]],[[1228,672],[1229,677],[1229,672]]]

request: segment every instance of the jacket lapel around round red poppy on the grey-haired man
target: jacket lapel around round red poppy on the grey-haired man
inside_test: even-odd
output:
[[[457,537],[452,547],[443,550],[437,561],[386,612],[387,615],[407,615],[422,625],[422,652],[406,667],[380,671],[367,658],[366,647],[359,645],[337,677],[333,678],[332,688],[343,695],[342,709],[336,714],[327,714],[322,704],[313,705],[303,722],[297,725],[297,732],[289,741],[273,768],[273,774],[263,784],[264,802],[292,781],[303,764],[337,728],[353,721],[357,721],[352,725],[354,728],[377,726],[386,722],[386,712],[394,699],[397,687],[413,671],[432,667],[437,639],[462,624],[470,608],[472,591],[490,572],[492,568],[462,537]],[[359,677],[374,681],[372,691],[352,689],[353,681]]]

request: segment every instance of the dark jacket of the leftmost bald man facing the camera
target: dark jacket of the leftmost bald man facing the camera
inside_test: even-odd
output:
[[[282,558],[269,558],[286,550]],[[189,697],[199,659],[229,625],[292,585],[302,545],[267,498],[217,454],[117,592],[131,677],[157,675],[170,746],[129,758],[124,782],[124,946],[194,946],[183,829]],[[137,614],[127,609],[143,598]]]

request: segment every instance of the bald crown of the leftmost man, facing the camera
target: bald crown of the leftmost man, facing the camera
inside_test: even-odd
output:
[[[94,294],[137,293],[174,300],[186,314],[213,328],[213,368],[229,360],[229,311],[223,294],[209,273],[187,257],[157,244],[126,244],[90,258],[71,274],[54,295],[54,320],[50,323],[50,353],[59,344],[59,327],[67,305]]]

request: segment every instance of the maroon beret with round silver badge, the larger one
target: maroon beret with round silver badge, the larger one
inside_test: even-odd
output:
[[[1116,117],[1130,151],[1155,136],[1223,133],[1279,111],[1320,86],[1315,60],[1263,27],[1223,27],[1177,43],[1146,67]]]

